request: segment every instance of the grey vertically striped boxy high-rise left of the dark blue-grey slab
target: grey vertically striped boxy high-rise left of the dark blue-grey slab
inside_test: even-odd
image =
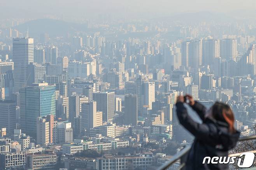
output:
[[[115,92],[93,92],[97,111],[102,111],[103,121],[112,121],[115,111]]]

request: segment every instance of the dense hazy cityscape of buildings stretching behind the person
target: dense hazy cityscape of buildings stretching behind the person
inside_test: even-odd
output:
[[[255,135],[255,22],[183,15],[2,19],[0,170],[156,170],[193,142],[184,94]]]

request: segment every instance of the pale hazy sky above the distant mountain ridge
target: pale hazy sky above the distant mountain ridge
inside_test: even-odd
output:
[[[0,0],[2,18],[168,16],[181,12],[256,11],[256,0]]]

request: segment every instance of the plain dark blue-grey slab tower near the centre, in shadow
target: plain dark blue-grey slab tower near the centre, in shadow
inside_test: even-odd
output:
[[[124,124],[137,125],[138,108],[137,108],[137,95],[126,94],[124,96]]]

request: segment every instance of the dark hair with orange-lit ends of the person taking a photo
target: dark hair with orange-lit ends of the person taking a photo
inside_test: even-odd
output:
[[[235,132],[234,128],[234,114],[230,106],[228,104],[224,104],[222,102],[215,102],[212,106],[212,116],[214,119],[218,121],[223,121],[228,123],[230,133]]]

